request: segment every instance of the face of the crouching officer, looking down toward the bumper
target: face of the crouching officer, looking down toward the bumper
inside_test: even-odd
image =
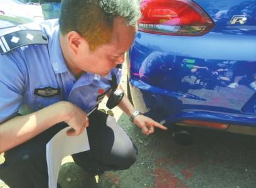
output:
[[[116,18],[110,43],[102,44],[94,51],[81,49],[75,66],[89,73],[107,75],[115,66],[124,63],[125,52],[131,48],[136,29],[126,26],[124,18]]]

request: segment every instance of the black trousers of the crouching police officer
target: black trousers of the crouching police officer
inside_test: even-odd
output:
[[[66,123],[58,123],[5,152],[5,162],[0,165],[0,179],[11,188],[48,187],[46,144],[67,126]],[[113,117],[95,110],[89,116],[87,133],[90,150],[72,155],[75,163],[84,170],[124,170],[136,161],[136,146]]]

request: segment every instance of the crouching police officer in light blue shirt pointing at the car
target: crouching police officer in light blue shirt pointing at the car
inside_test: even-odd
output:
[[[128,169],[135,162],[131,139],[95,108],[117,89],[116,67],[131,47],[139,14],[137,0],[65,0],[59,21],[0,34],[0,179],[9,187],[48,187],[45,145],[67,126],[68,136],[87,128],[90,150],[72,155],[84,170]],[[127,97],[119,107],[145,135],[166,130]]]

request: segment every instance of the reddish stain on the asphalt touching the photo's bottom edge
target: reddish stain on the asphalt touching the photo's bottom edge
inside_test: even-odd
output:
[[[186,188],[187,185],[184,184],[178,177],[171,174],[167,170],[156,168],[154,170],[154,185],[152,187],[156,188]]]

